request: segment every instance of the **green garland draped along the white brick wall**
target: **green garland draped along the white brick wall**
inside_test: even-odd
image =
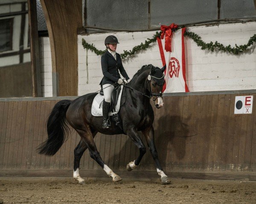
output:
[[[141,43],[140,45],[135,46],[132,50],[124,50],[123,54],[120,54],[122,59],[125,59],[126,57],[132,57],[134,56],[137,52],[142,51],[147,49],[150,44],[152,42],[156,42],[157,37],[160,37],[161,32],[156,32],[156,34],[154,34],[153,38],[148,38],[147,40],[145,40],[145,43]],[[224,46],[223,44],[219,43],[219,42],[215,42],[213,43],[212,41],[209,43],[204,42],[203,40],[201,40],[201,37],[198,36],[197,34],[193,33],[193,32],[185,32],[184,36],[190,37],[192,40],[195,41],[195,43],[201,47],[202,50],[209,50],[209,51],[215,51],[215,50],[219,50],[219,51],[223,51],[223,52],[228,52],[228,53],[232,53],[232,54],[239,54],[245,50],[247,50],[247,48],[251,45],[253,45],[254,42],[256,42],[256,34],[254,34],[252,37],[250,37],[250,40],[248,41],[247,44],[245,45],[236,45],[236,47],[231,47],[231,45],[228,46]],[[105,51],[102,50],[98,50],[97,48],[94,47],[93,44],[89,44],[87,43],[84,38],[82,38],[82,45],[84,47],[84,49],[89,49],[90,51],[93,51],[96,55],[102,55],[105,53]]]

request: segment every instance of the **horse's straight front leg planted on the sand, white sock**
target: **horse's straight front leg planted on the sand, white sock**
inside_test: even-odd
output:
[[[155,165],[157,167],[157,173],[159,176],[161,176],[162,184],[170,184],[171,181],[166,176],[166,174],[163,172],[163,169],[160,165],[160,161],[158,159],[157,149],[154,144],[154,128],[153,128],[153,126],[151,125],[150,127],[146,128],[145,130],[142,131],[142,133],[145,136],[149,150],[154,159]]]

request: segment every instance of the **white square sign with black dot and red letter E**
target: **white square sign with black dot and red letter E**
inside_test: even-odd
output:
[[[248,114],[253,112],[253,96],[236,96],[235,114]]]

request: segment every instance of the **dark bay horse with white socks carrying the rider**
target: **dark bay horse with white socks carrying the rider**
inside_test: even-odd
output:
[[[126,134],[131,138],[140,150],[138,158],[127,164],[127,170],[131,171],[140,164],[146,152],[145,145],[138,133],[138,131],[142,131],[154,159],[157,173],[161,176],[161,182],[169,184],[169,178],[163,172],[154,144],[154,128],[152,125],[154,112],[150,104],[150,99],[152,99],[157,108],[163,106],[161,90],[164,84],[163,72],[165,68],[166,66],[160,69],[153,65],[144,65],[137,71],[131,82],[124,87],[121,97],[122,106],[118,113],[122,120],[122,129],[116,126],[113,121],[111,121],[110,129],[103,129],[102,117],[91,114],[93,99],[97,93],[86,94],[73,101],[61,100],[56,103],[47,121],[48,139],[41,144],[38,152],[48,156],[54,155],[64,143],[65,136],[69,132],[68,124],[70,124],[81,137],[74,150],[73,178],[79,184],[84,184],[84,179],[79,175],[79,164],[81,156],[88,148],[90,157],[116,182],[122,180],[122,178],[102,161],[93,140],[96,133],[100,132],[106,135]]]

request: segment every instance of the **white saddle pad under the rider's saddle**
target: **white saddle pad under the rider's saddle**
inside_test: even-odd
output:
[[[122,96],[122,89],[123,85],[121,85],[121,91],[117,99],[117,103],[115,106],[116,112],[110,112],[110,115],[112,116],[115,113],[118,113],[120,108],[120,102],[121,102],[121,96]],[[93,99],[93,105],[92,105],[92,115],[93,116],[102,116],[102,104],[103,104],[104,96],[97,94],[95,98]]]

